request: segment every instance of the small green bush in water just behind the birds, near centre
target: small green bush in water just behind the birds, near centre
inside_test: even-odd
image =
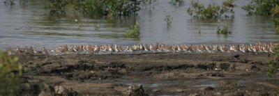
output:
[[[126,33],[126,38],[140,38],[140,23],[135,22],[134,26],[130,26]]]

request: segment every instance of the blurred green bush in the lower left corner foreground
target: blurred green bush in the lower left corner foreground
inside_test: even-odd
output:
[[[8,52],[0,52],[0,95],[14,95],[19,87],[22,65],[17,56],[8,56]]]

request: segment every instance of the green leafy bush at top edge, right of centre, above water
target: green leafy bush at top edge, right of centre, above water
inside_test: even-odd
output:
[[[190,5],[191,7],[187,10],[188,14],[198,19],[219,18],[222,15],[229,17],[226,13],[232,13],[233,16],[234,7],[236,6],[234,5],[234,0],[227,0],[223,2],[223,6],[218,6],[213,3],[206,7],[204,4],[199,3],[198,0],[191,1]]]

